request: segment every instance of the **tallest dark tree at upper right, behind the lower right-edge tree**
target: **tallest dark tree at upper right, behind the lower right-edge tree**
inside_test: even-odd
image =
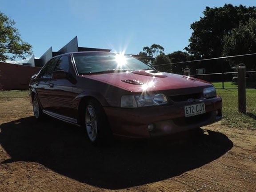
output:
[[[204,17],[191,24],[193,30],[185,50],[196,59],[220,57],[223,53],[224,36],[237,28],[240,22],[256,18],[256,7],[225,4],[220,8],[206,7]]]

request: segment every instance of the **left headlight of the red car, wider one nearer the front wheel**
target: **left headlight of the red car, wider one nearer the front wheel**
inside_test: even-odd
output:
[[[146,107],[152,105],[167,104],[167,98],[164,94],[145,94],[145,95],[126,95],[121,98],[121,107],[124,108],[136,108]]]

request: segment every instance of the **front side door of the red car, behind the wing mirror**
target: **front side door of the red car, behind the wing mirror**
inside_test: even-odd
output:
[[[75,118],[76,109],[72,106],[72,103],[76,97],[76,94],[73,93],[76,75],[70,57],[61,56],[57,61],[54,71],[64,71],[67,73],[67,76],[64,78],[52,76],[49,84],[50,110],[58,115]]]

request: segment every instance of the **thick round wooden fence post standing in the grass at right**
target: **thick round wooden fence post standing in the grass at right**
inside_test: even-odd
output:
[[[245,64],[238,65],[238,112],[246,113]]]

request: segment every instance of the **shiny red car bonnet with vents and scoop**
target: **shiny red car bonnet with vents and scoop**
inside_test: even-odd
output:
[[[98,80],[131,92],[160,91],[211,85],[206,81],[188,76],[147,71],[89,74],[83,75],[83,77]]]

